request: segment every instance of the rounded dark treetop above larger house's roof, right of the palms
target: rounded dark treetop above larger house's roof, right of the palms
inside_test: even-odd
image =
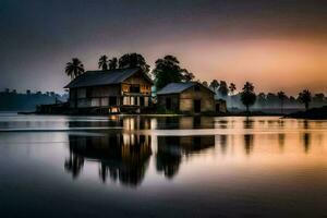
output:
[[[119,59],[119,68],[141,68],[145,73],[149,72],[149,65],[140,53],[125,53]]]

